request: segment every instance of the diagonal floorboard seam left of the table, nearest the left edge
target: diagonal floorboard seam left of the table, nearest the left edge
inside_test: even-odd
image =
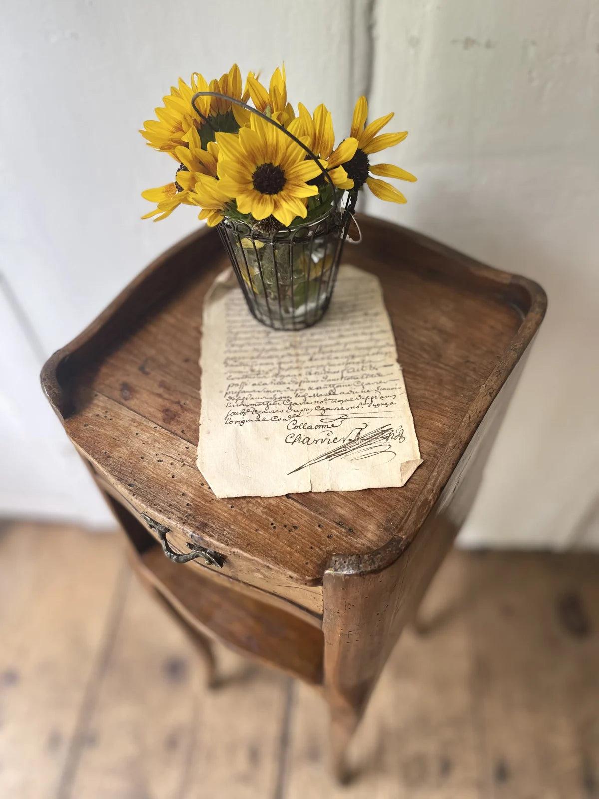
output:
[[[73,783],[77,774],[81,752],[85,745],[85,733],[89,721],[92,718],[93,710],[97,705],[97,698],[100,694],[101,683],[104,678],[110,657],[113,653],[114,642],[117,638],[117,631],[121,624],[123,608],[125,606],[125,596],[129,588],[131,571],[126,563],[121,566],[117,576],[117,582],[110,600],[109,611],[106,617],[105,629],[98,647],[97,656],[89,672],[85,694],[81,701],[81,707],[77,715],[77,723],[69,744],[69,750],[65,757],[65,765],[62,769],[56,799],[70,799]]]

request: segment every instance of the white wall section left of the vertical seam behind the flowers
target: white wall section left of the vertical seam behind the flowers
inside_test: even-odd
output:
[[[237,62],[348,128],[367,75],[366,0],[22,0],[0,23],[0,514],[112,524],[39,390],[55,349],[150,260],[198,225],[141,221],[172,161],[137,132],[179,76]],[[26,355],[24,355],[26,353]],[[3,409],[3,410],[2,410]],[[31,423],[32,416],[37,420]],[[50,455],[49,453],[53,453]],[[72,497],[68,485],[73,481]]]

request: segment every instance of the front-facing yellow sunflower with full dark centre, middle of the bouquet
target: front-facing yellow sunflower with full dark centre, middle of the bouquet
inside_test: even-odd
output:
[[[216,133],[220,147],[220,189],[234,197],[240,213],[257,221],[272,215],[282,225],[307,216],[306,199],[318,194],[308,185],[320,173],[305,151],[268,121],[252,114],[237,135]]]

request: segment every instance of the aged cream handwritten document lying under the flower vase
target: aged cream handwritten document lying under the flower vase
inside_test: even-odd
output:
[[[253,319],[230,272],[204,303],[197,467],[217,497],[403,486],[419,467],[379,279],[344,265],[312,328]]]

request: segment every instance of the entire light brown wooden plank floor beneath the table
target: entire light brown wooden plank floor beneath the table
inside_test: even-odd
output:
[[[306,686],[192,643],[117,535],[0,532],[2,799],[597,799],[599,557],[446,561],[327,774]]]

